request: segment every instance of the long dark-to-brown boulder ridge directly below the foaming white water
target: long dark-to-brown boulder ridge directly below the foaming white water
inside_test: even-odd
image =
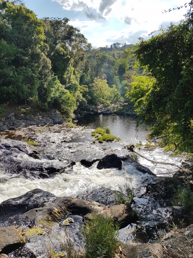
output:
[[[69,214],[91,218],[93,213],[105,217],[112,216],[115,220],[120,218],[121,227],[137,220],[135,211],[124,204],[113,205],[109,208],[94,201],[56,197],[49,192],[35,189],[0,204],[0,225],[10,226],[15,223],[20,226],[30,223],[34,225],[34,223],[42,224],[40,221],[48,222],[48,220],[58,222]]]

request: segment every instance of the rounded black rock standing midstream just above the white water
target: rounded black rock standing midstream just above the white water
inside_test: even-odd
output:
[[[98,162],[97,168],[118,168],[120,170],[122,161],[116,154],[109,154]]]

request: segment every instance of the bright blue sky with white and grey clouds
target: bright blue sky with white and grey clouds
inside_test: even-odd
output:
[[[25,6],[38,18],[67,17],[70,24],[80,29],[93,47],[110,46],[112,43],[138,42],[148,34],[170,22],[183,19],[188,10],[180,8],[183,0],[24,0]]]

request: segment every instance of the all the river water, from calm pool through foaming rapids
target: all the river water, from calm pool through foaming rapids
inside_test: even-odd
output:
[[[90,126],[90,128],[84,128],[83,126]],[[121,141],[119,143],[99,144],[96,142],[94,144],[91,131],[96,127],[107,126],[110,127],[112,134],[121,138]],[[110,153],[115,153],[118,156],[126,156],[128,150],[124,146],[137,142],[145,144],[146,133],[145,125],[140,125],[136,129],[135,118],[118,115],[87,117],[85,121],[80,121],[80,127],[77,128],[69,128],[66,125],[54,125],[51,127],[31,126],[15,132],[3,132],[1,133],[1,138],[21,140],[22,137],[26,137],[38,142],[37,147],[43,149],[47,156],[54,157],[56,164],[60,164],[63,159],[73,160],[76,164],[73,166],[73,169],[69,168],[65,173],[59,173],[48,178],[26,178],[21,174],[14,179],[9,179],[9,176],[12,175],[8,175],[3,166],[0,166],[0,203],[6,199],[23,195],[29,190],[36,188],[49,191],[56,196],[70,196],[84,199],[104,187],[118,190],[118,184],[119,186],[125,184],[123,173],[126,173],[132,181],[132,188],[135,193],[135,209],[139,213],[142,211],[146,212],[141,216],[141,226],[150,229],[157,224],[167,223],[171,220],[171,210],[166,207],[162,200],[157,200],[154,197],[150,198],[147,195],[147,185],[155,184],[158,180],[155,176],[138,171],[126,161],[123,161],[122,170],[113,168],[99,170],[96,168],[98,162],[93,163],[91,167],[85,167],[80,163],[82,159],[99,159]],[[161,148],[148,150],[141,148],[137,151],[143,156],[155,161],[171,162],[180,165],[180,158],[170,157]],[[18,157],[21,162],[26,164],[26,167],[28,166],[28,162],[34,159],[33,157],[26,159],[26,156],[22,154]],[[47,162],[46,159],[41,160],[41,162],[44,161]],[[37,162],[40,161],[37,160]],[[148,167],[153,173],[159,174],[159,176],[162,173],[177,170],[176,167],[153,164],[143,158],[140,158],[139,162]],[[166,176],[171,177],[172,174],[166,174]],[[120,240],[128,241],[128,235],[125,235],[125,231],[135,226],[129,225],[120,231]],[[144,232],[144,241],[153,239],[152,232],[147,233],[148,230]]]

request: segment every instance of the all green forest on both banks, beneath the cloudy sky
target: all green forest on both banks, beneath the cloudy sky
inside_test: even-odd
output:
[[[92,48],[68,18],[38,19],[22,1],[0,0],[0,102],[58,109],[130,102],[150,137],[193,152],[193,28],[190,11],[135,46]]]

